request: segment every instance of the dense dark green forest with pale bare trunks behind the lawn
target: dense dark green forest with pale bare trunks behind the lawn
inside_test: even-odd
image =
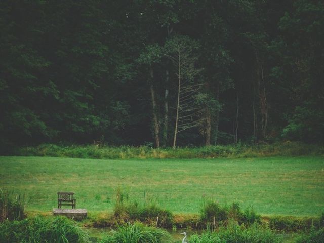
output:
[[[324,142],[324,2],[2,0],[0,145]]]

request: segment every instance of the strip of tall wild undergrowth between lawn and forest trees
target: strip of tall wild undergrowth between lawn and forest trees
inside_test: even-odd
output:
[[[156,149],[147,146],[110,147],[107,145],[54,145],[16,148],[10,152],[18,156],[52,156],[72,158],[130,159],[130,158],[216,158],[216,157],[266,157],[322,155],[324,146],[298,142],[275,143],[271,145],[217,145],[193,148]]]

